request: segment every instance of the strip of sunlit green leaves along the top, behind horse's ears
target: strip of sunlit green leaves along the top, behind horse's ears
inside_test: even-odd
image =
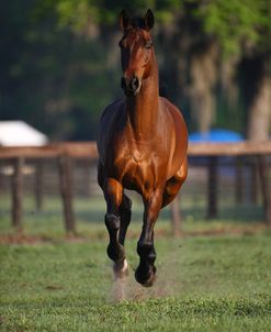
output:
[[[187,8],[191,11],[191,18],[201,21],[203,32],[218,40],[227,55],[240,56],[246,45],[260,51],[270,48],[270,43],[267,43],[271,31],[269,0],[137,0],[133,2],[58,0],[56,4],[60,24],[77,30],[81,30],[89,20],[93,20],[97,24],[115,24],[116,16],[123,8],[131,12],[151,8],[161,22],[180,15]]]

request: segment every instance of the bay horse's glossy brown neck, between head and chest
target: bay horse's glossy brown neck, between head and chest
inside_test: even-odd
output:
[[[126,99],[126,111],[136,140],[154,137],[156,131],[159,82],[155,57],[153,60],[151,73],[143,80],[138,95]]]

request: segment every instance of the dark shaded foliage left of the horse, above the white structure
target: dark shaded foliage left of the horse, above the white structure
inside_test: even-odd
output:
[[[1,120],[26,120],[53,140],[76,140],[78,133],[80,140],[94,140],[93,123],[116,96],[110,87],[118,86],[114,70],[104,66],[103,42],[59,29],[54,1],[27,0],[23,10],[21,1],[12,3],[2,11]]]

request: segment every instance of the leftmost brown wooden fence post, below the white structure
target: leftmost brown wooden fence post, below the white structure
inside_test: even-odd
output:
[[[13,161],[12,226],[22,230],[23,164],[22,157]]]

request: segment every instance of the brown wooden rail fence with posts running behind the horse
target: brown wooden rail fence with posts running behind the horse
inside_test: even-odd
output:
[[[271,141],[255,143],[191,143],[189,157],[206,157],[208,165],[208,204],[207,215],[214,218],[217,213],[217,165],[218,158],[225,156],[253,156],[257,161],[259,179],[263,198],[264,220],[271,226],[271,192],[269,184],[269,162],[271,156]],[[12,224],[22,228],[23,199],[23,165],[27,159],[57,159],[59,170],[60,193],[64,207],[64,221],[67,232],[75,232],[76,222],[72,208],[72,159],[97,161],[95,142],[58,143],[41,147],[1,147],[0,159],[8,159],[13,164],[12,180]],[[38,198],[38,192],[36,192]],[[38,199],[37,199],[38,200]],[[171,207],[173,233],[179,230],[178,201]]]

